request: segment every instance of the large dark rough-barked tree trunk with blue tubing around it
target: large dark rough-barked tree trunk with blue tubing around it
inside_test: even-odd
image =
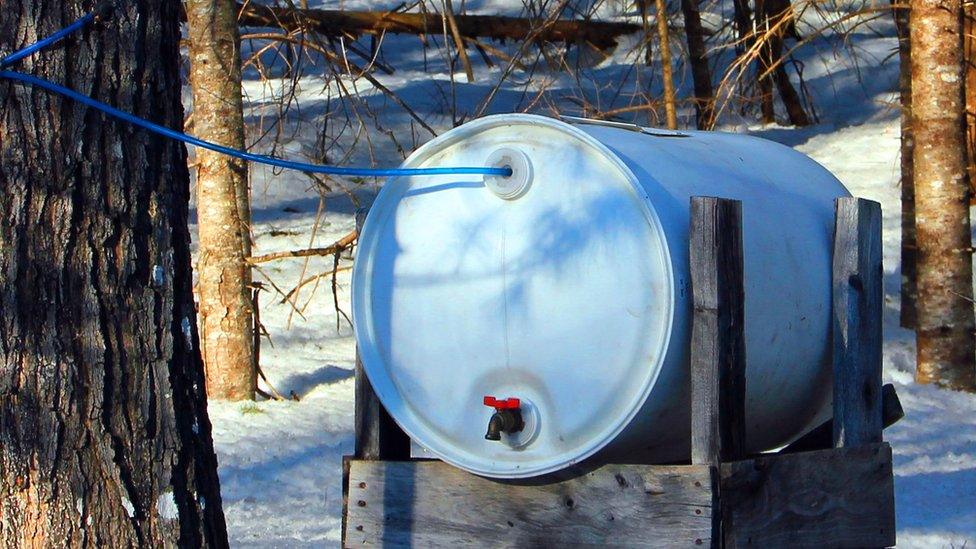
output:
[[[8,0],[0,44],[79,5]],[[116,10],[16,69],[179,128],[179,2]],[[0,81],[0,159],[0,546],[226,546],[184,147]]]

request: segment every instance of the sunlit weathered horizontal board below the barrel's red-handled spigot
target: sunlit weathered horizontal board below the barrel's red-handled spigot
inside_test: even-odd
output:
[[[439,461],[349,461],[347,547],[711,545],[705,466],[606,465],[553,484]]]

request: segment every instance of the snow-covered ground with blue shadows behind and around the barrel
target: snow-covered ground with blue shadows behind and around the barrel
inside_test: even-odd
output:
[[[340,0],[320,2],[338,5]],[[396,2],[390,2],[391,5]],[[376,7],[376,2],[344,2],[345,7]],[[315,3],[313,2],[313,5]],[[469,9],[517,11],[518,0],[468,2]],[[612,14],[611,14],[612,15]],[[707,18],[706,18],[707,19]],[[802,32],[802,29],[801,29]],[[829,168],[851,192],[878,200],[884,209],[885,249],[885,379],[898,388],[906,418],[885,436],[895,452],[898,543],[902,547],[965,547],[976,544],[976,395],[916,385],[914,340],[898,328],[899,189],[897,57],[890,21],[878,20],[849,41],[852,50],[832,50],[826,42],[804,48],[804,75],[821,121],[809,128],[759,127],[728,117],[726,131],[749,132],[795,147]],[[449,75],[431,50],[424,70],[416,38],[394,38],[384,45],[386,61],[397,68],[380,80],[399,94],[439,131],[450,127],[445,110]],[[402,47],[399,47],[402,45]],[[595,66],[596,81],[623,74],[629,65],[626,43],[618,53]],[[855,52],[859,63],[852,61]],[[439,63],[439,64],[438,64]],[[500,73],[475,59],[479,81],[463,83],[456,75],[457,104],[473,112]],[[321,71],[321,69],[319,69]],[[680,71],[679,71],[680,72]],[[679,74],[680,76],[680,74]],[[536,76],[542,79],[543,76]],[[681,88],[690,86],[682,76]],[[518,109],[525,75],[505,84],[488,112]],[[531,80],[529,81],[531,84]],[[280,83],[280,82],[279,82]],[[407,148],[427,137],[411,128],[409,117],[365,81],[357,85],[370,105],[382,109],[383,124]],[[557,92],[565,79],[550,83]],[[252,122],[271,114],[264,103],[270,88],[249,79],[245,91]],[[593,90],[590,90],[593,92]],[[334,90],[310,76],[301,81],[298,104],[290,116],[303,121],[285,132],[278,154],[310,154],[316,128],[323,124],[324,97]],[[567,94],[573,91],[567,91]],[[597,90],[596,97],[600,97]],[[268,111],[268,112],[266,112]],[[685,120],[689,118],[685,112]],[[377,164],[399,162],[389,140],[376,140]],[[409,152],[409,151],[407,151]],[[368,162],[362,147],[352,158]],[[355,206],[343,193],[321,199],[309,180],[295,173],[276,173],[252,166],[255,253],[328,245],[354,226]],[[357,199],[368,203],[379,182],[346,182]],[[320,214],[321,208],[321,216]],[[314,233],[314,234],[313,234]],[[348,264],[344,260],[343,265]],[[263,265],[256,278],[273,281],[288,292],[301,277],[332,268],[331,258],[288,260]],[[266,275],[267,278],[264,278]],[[349,311],[349,273],[338,276],[339,306]],[[349,324],[338,317],[331,281],[314,290],[307,286],[291,304],[282,304],[273,291],[262,295],[261,320],[271,343],[261,350],[261,363],[271,384],[299,401],[261,401],[248,404],[213,402],[210,414],[220,461],[224,509],[232,544],[237,547],[337,546],[341,511],[341,456],[352,451],[354,343]],[[264,386],[264,385],[263,385]],[[267,388],[266,386],[264,386]]]

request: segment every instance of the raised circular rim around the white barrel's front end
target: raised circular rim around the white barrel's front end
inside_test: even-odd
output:
[[[670,347],[671,338],[674,331],[674,308],[676,305],[674,266],[671,259],[671,252],[663,224],[661,223],[660,217],[658,216],[654,205],[651,203],[650,197],[647,195],[646,190],[641,185],[636,174],[634,174],[633,170],[627,166],[623,159],[621,159],[616,153],[614,153],[596,137],[578,128],[576,125],[563,122],[555,118],[532,114],[498,114],[485,116],[468,122],[463,126],[459,126],[458,128],[446,132],[425,143],[415,150],[406,160],[404,160],[402,167],[416,167],[431,156],[432,153],[436,153],[445,147],[451,146],[456,142],[467,138],[471,134],[497,126],[524,124],[548,126],[564,132],[568,136],[592,147],[595,152],[603,155],[606,160],[610,161],[620,171],[620,174],[624,177],[624,179],[626,179],[626,183],[629,184],[635,194],[641,198],[639,202],[643,209],[644,216],[650,224],[651,230],[659,237],[658,242],[660,247],[658,251],[661,256],[660,259],[663,262],[663,271],[667,276],[667,280],[664,281],[663,284],[666,293],[666,295],[663,296],[663,303],[665,304],[667,310],[665,313],[663,313],[665,316],[665,325],[660,337],[660,348],[663,349],[664,352],[657,353],[654,362],[648,364],[650,375],[644,378],[646,381],[643,383],[643,387],[639,392],[636,393],[635,398],[626,407],[628,410],[626,415],[621,417],[619,421],[611,423],[610,428],[605,429],[601,434],[593,437],[593,439],[586,444],[581,444],[578,446],[577,448],[580,450],[579,452],[563,452],[552,459],[540,460],[538,462],[539,465],[536,467],[522,467],[514,470],[499,471],[485,469],[474,466],[471,463],[459,461],[447,455],[445,452],[439,451],[437,448],[422,445],[442,461],[477,475],[498,479],[524,479],[560,471],[592,457],[620,437],[627,427],[633,423],[634,419],[640,413],[642,408],[644,408],[644,405],[646,404],[647,399],[661,374],[664,362],[669,354],[667,349]],[[458,131],[461,128],[464,128],[466,131]],[[391,178],[387,181],[383,188],[380,189],[380,192],[377,194],[376,199],[374,200],[373,205],[367,214],[362,231],[358,236],[356,261],[353,264],[352,270],[352,318],[353,331],[358,349],[358,360],[362,363],[363,372],[370,380],[373,391],[376,393],[377,398],[379,398],[380,402],[390,413],[390,416],[394,419],[400,429],[402,429],[404,433],[411,438],[411,440],[420,444],[422,439],[435,439],[437,437],[416,436],[418,431],[414,429],[414,425],[411,425],[410,422],[401,421],[400,414],[397,413],[398,411],[402,411],[404,414],[410,416],[416,415],[413,410],[403,404],[404,401],[402,399],[397,398],[395,383],[388,377],[388,374],[384,375],[382,379],[376,379],[375,375],[370,374],[371,370],[375,372],[385,372],[387,369],[387,365],[385,364],[381,353],[376,349],[376,343],[369,344],[370,336],[372,335],[372,320],[370,318],[371,307],[368,306],[370,303],[369,296],[371,294],[371,278],[369,275],[372,272],[371,259],[373,257],[370,250],[375,249],[378,243],[378,229],[375,228],[377,227],[376,220],[378,218],[384,218],[386,214],[395,211],[395,205],[397,202],[395,199],[401,195],[399,187],[405,184],[405,179],[409,178]],[[373,220],[373,222],[371,223],[370,220]],[[371,366],[371,364],[375,366]],[[415,421],[414,423],[416,423],[417,427],[419,427],[421,431],[430,430],[429,427],[425,427],[423,425],[423,421]],[[570,454],[572,457],[567,457],[567,455]]]

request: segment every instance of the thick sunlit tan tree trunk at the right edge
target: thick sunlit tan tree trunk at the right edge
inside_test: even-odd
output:
[[[976,390],[960,0],[912,0],[921,383]]]

